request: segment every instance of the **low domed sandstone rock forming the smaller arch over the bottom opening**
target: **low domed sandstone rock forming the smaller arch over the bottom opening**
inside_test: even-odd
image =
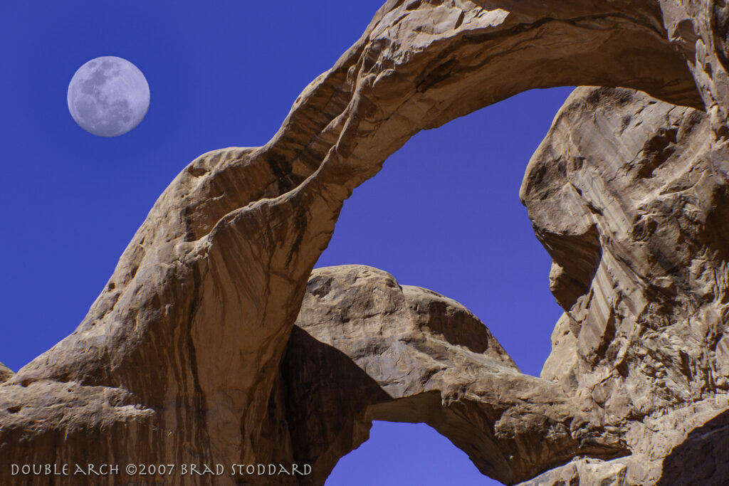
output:
[[[523,375],[458,302],[359,265],[314,270],[283,364],[297,460],[321,484],[372,420],[425,422],[490,477],[627,451],[553,383]],[[346,442],[343,442],[346,437]]]

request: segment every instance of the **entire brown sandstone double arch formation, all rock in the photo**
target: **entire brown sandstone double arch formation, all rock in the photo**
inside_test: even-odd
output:
[[[696,447],[714,455],[703,484],[725,482],[721,434],[703,431],[727,409],[727,9],[388,1],[268,144],[179,174],[77,330],[1,383],[0,482],[12,463],[305,460],[308,476],[158,479],[321,484],[375,417],[431,423],[504,482],[556,466],[665,484]],[[410,136],[556,85],[663,101],[578,90],[529,164],[521,195],[566,311],[541,378],[462,307],[375,270],[321,270],[307,294],[343,200]],[[337,390],[291,399],[327,373],[372,393],[334,416]]]

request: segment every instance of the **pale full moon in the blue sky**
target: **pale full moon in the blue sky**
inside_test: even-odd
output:
[[[76,71],[69,83],[71,117],[89,133],[116,137],[127,133],[147,114],[149,85],[139,68],[107,55]]]

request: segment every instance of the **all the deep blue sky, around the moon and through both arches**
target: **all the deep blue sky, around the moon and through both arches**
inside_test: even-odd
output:
[[[0,361],[72,332],[147,211],[203,152],[259,146],[381,0],[0,2]],[[152,103],[99,138],[66,106],[74,72],[116,55]],[[418,134],[346,202],[319,266],[370,264],[469,307],[538,375],[561,313],[518,188],[569,88],[532,91]],[[376,423],[327,486],[496,484],[422,425]]]

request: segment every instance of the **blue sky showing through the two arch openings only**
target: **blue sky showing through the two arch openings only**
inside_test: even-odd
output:
[[[572,89],[530,90],[410,138],[346,201],[316,267],[366,264],[401,285],[456,299],[522,372],[539,376],[563,311],[549,291],[550,256],[518,192],[531,154]],[[383,420],[340,459],[326,484],[388,484],[381,482],[383,468],[394,463],[377,464],[390,455],[408,461],[394,477],[410,471],[418,484],[459,474],[468,484],[502,484],[426,424]]]

